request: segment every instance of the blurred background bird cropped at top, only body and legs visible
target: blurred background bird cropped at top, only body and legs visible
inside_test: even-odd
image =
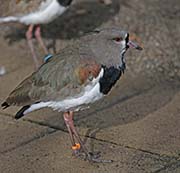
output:
[[[7,3],[7,2],[6,2]],[[48,50],[41,37],[41,25],[47,24],[62,15],[70,6],[72,0],[9,0],[8,16],[0,17],[0,23],[18,22],[28,25],[26,39],[32,53],[36,68],[39,62],[34,50],[33,32],[45,54]]]

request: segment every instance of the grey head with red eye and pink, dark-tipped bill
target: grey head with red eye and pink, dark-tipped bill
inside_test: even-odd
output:
[[[117,28],[95,30],[85,36],[84,41],[84,45],[89,47],[100,62],[107,66],[118,66],[123,72],[127,49],[142,50],[139,45],[129,40],[128,32]]]

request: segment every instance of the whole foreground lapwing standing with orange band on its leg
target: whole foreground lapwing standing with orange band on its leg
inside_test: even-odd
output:
[[[44,107],[63,112],[75,156],[100,162],[82,142],[73,123],[74,113],[110,94],[125,72],[129,47],[142,50],[126,31],[117,27],[96,29],[47,58],[1,106],[22,106],[15,119]]]

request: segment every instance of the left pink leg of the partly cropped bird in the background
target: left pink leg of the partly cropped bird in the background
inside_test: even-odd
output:
[[[32,32],[33,32],[33,28],[34,28],[34,25],[30,25],[27,32],[26,32],[26,39],[27,39],[27,42],[28,42],[28,46],[31,50],[31,53],[32,53],[32,56],[33,56],[33,60],[34,60],[34,63],[35,63],[35,66],[36,68],[39,67],[39,63],[38,63],[38,60],[37,60],[37,56],[36,56],[36,53],[34,51],[34,46],[33,46],[33,42],[32,42]]]

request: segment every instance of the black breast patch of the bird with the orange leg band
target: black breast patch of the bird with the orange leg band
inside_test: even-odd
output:
[[[103,94],[108,94],[111,88],[119,80],[121,76],[121,70],[113,66],[109,68],[102,66],[102,68],[104,69],[104,75],[99,80],[100,92]]]

